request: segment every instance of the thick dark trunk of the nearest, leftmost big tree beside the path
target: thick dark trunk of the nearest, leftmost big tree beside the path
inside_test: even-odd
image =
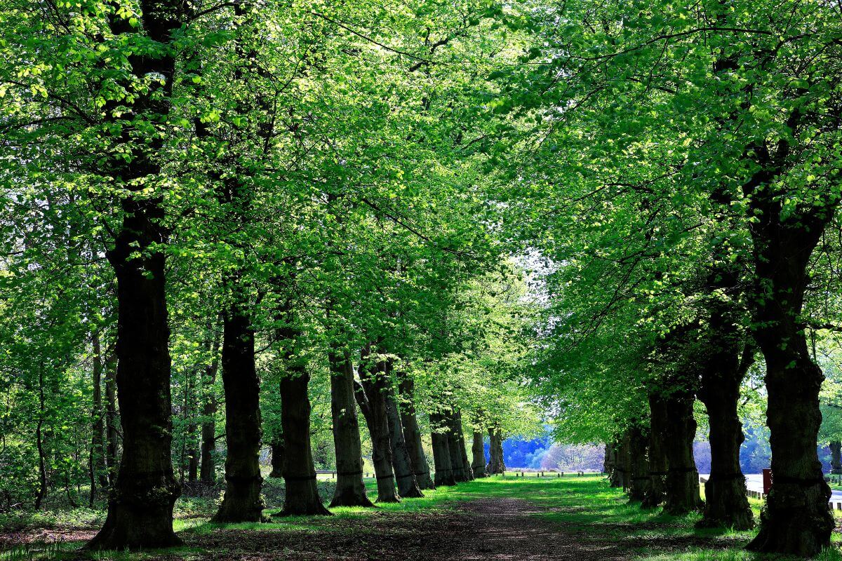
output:
[[[146,14],[145,14],[146,15]],[[172,69],[169,69],[172,77]],[[173,504],[170,357],[160,201],[125,198],[126,214],[108,251],[117,277],[117,399],[123,455],[108,516],[88,542],[95,549],[163,548],[180,543]],[[132,257],[140,253],[144,257]]]

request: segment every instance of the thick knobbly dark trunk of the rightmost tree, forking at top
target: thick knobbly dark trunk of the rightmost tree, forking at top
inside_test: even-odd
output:
[[[796,110],[796,121],[797,115]],[[758,186],[770,183],[772,177],[764,174],[765,168],[754,177]],[[824,376],[810,357],[801,318],[807,264],[833,206],[783,220],[781,198],[774,190],[757,190],[751,200],[758,216],[751,225],[758,279],[754,340],[766,362],[773,483],[760,514],[760,532],[749,549],[807,557],[829,547],[834,529],[830,488],[816,452],[822,422],[818,392]]]

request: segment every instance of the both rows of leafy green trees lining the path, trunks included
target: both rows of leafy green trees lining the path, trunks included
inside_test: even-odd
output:
[[[259,511],[258,373],[277,376],[285,446],[306,450],[326,365],[333,410],[360,406],[385,470],[387,446],[417,444],[390,395],[435,427],[458,426],[446,411],[494,426],[520,364],[560,431],[635,450],[614,462],[674,512],[701,506],[701,402],[706,523],[749,527],[738,408],[762,372],[775,486],[751,547],[829,545],[815,349],[839,330],[839,9],[4,5],[4,375],[26,380],[13,400],[40,410],[43,442],[49,396],[113,326],[99,346],[115,341],[104,403],[115,387],[124,452],[93,545],[174,540],[182,348],[194,378],[221,353],[220,519]],[[545,304],[528,360],[509,267],[534,271]],[[353,463],[338,421],[337,462]],[[312,461],[286,458],[290,495],[312,502]],[[404,483],[407,465],[392,466]]]

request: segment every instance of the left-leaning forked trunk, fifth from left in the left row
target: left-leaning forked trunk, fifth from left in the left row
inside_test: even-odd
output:
[[[389,417],[386,412],[386,363],[369,364],[370,347],[362,352],[360,384],[354,397],[365,416],[371,436],[371,463],[377,480],[377,502],[398,502],[395,476],[392,472],[392,444],[389,437]]]

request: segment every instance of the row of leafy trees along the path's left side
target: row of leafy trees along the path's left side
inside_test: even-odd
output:
[[[87,478],[92,504],[109,490],[89,548],[173,545],[179,479],[212,483],[224,438],[214,521],[263,519],[264,446],[281,514],[328,514],[311,423],[328,394],[332,505],[371,505],[358,408],[377,500],[482,474],[487,431],[504,468],[502,435],[536,421],[466,88],[498,56],[495,10],[3,4],[9,503],[19,482],[38,507]]]

